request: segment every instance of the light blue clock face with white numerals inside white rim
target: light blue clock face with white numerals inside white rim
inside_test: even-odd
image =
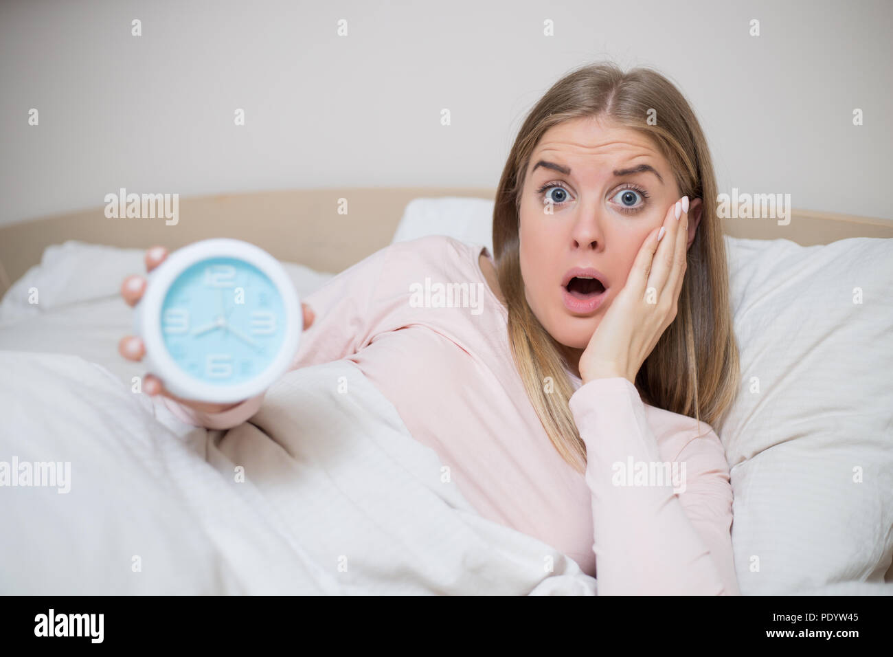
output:
[[[211,257],[171,283],[162,303],[162,340],[188,375],[235,385],[276,358],[285,317],[279,291],[260,269],[234,257]]]

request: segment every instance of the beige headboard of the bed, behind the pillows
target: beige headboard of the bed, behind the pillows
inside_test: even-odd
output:
[[[339,272],[387,246],[406,204],[419,197],[494,198],[475,188],[335,188],[259,191],[179,199],[176,225],[163,218],[106,218],[104,206],[0,226],[0,294],[37,265],[46,246],[81,240],[116,247],[174,249],[209,237],[250,241],[274,257]],[[346,199],[346,214],[339,214]],[[732,237],[784,238],[804,246],[847,237],[893,238],[893,221],[812,211],[775,219],[727,219]]]

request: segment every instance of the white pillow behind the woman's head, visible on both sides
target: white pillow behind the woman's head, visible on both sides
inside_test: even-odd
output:
[[[493,205],[414,199],[394,241],[442,234],[489,248]],[[741,592],[882,583],[893,558],[893,240],[725,240],[742,388],[714,429],[731,467]]]

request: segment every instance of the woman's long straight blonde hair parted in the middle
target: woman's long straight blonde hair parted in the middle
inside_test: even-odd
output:
[[[654,125],[649,116],[656,117]],[[644,133],[670,164],[681,195],[703,199],[677,315],[638,371],[639,395],[649,405],[696,417],[698,426],[714,425],[735,399],[740,375],[714,168],[688,101],[647,68],[624,73],[613,63],[597,63],[568,73],[530,110],[514,141],[497,188],[493,249],[515,366],[555,449],[580,472],[586,446],[568,407],[574,392],[568,363],[524,297],[518,228],[524,178],[539,139],[559,123],[594,117]],[[544,385],[549,378],[551,385]]]

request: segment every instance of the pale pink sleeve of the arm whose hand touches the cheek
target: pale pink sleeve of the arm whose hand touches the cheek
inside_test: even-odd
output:
[[[659,443],[636,387],[622,377],[585,383],[570,408],[587,448],[598,593],[739,594],[729,467],[714,431],[697,438],[694,426],[677,426]],[[684,490],[677,496],[673,484],[655,481],[615,485],[614,464],[630,459],[676,461],[679,471],[684,463]]]

